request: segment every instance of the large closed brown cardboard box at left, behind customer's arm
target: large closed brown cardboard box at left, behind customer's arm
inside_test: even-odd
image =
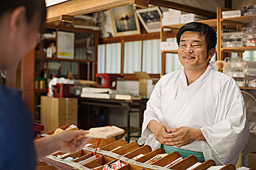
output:
[[[41,124],[43,133],[65,124],[77,125],[77,99],[41,96]]]

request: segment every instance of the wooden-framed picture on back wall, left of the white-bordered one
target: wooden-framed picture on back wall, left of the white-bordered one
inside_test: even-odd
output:
[[[110,9],[115,36],[140,34],[138,17],[132,5]]]

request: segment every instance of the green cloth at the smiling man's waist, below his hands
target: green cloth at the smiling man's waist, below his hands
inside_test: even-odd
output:
[[[161,144],[161,148],[163,148],[165,150],[165,152],[168,154],[172,153],[174,151],[177,151],[178,153],[180,153],[180,155],[183,159],[185,159],[186,157],[188,157],[190,155],[195,155],[197,157],[198,162],[203,163],[205,161],[203,153],[178,149],[178,148],[174,148],[174,147],[163,145],[163,144]]]

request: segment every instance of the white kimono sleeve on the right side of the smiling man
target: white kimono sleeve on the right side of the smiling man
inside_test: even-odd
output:
[[[216,158],[223,165],[235,165],[249,138],[245,104],[235,82],[224,87],[220,98],[214,124],[201,128],[207,141],[201,146],[205,160]]]

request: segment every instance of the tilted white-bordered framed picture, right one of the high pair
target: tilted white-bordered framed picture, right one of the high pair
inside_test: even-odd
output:
[[[160,16],[162,12],[158,6],[138,9],[135,11],[147,33],[156,33],[161,30]]]

